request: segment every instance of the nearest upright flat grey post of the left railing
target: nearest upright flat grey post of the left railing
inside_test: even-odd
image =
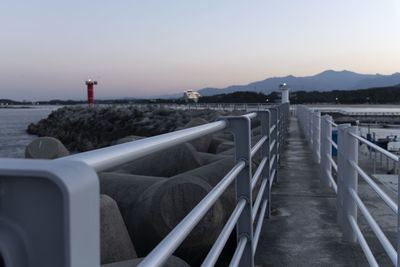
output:
[[[248,117],[225,117],[229,123],[228,131],[232,132],[235,138],[235,162],[244,161],[246,167],[236,177],[236,203],[241,199],[246,200],[237,225],[237,243],[245,237],[246,246],[243,251],[239,266],[254,266],[253,258],[253,221],[252,221],[252,190],[251,190],[251,130]]]

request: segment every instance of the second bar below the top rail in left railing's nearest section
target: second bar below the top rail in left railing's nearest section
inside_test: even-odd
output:
[[[239,200],[236,208],[233,210],[231,216],[226,222],[224,228],[218,236],[218,239],[215,241],[211,250],[208,252],[207,257],[201,264],[202,267],[214,266],[218,260],[219,255],[221,254],[223,248],[225,247],[226,242],[229,239],[230,234],[232,233],[233,228],[235,228],[236,223],[242,214],[244,207],[246,206],[247,201],[245,199]]]

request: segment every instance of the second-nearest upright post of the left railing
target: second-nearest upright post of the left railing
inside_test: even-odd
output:
[[[257,116],[261,122],[261,136],[268,137],[268,139],[264,142],[264,144],[261,147],[261,160],[264,159],[265,157],[268,159],[261,173],[261,177],[263,181],[267,180],[267,185],[269,185],[270,182],[269,180],[271,175],[271,171],[269,169],[269,163],[271,159],[270,146],[269,146],[271,140],[271,135],[270,135],[271,113],[268,110],[259,111],[257,112]],[[271,188],[269,186],[267,186],[266,190],[264,191],[263,200],[268,200],[267,210],[266,210],[266,216],[268,218],[271,214]]]

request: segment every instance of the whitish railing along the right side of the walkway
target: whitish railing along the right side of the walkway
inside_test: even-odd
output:
[[[374,180],[358,165],[358,144],[363,143],[371,150],[379,152],[400,164],[399,157],[377,146],[357,134],[357,126],[351,124],[335,124],[329,115],[321,116],[318,110],[304,105],[296,107],[300,126],[312,150],[313,158],[320,165],[320,182],[322,186],[332,187],[336,193],[337,222],[342,228],[343,240],[358,242],[371,266],[378,263],[371,252],[358,224],[357,207],[368,222],[372,231],[395,266],[400,266],[400,217],[398,202],[393,201]],[[332,127],[338,130],[337,144],[332,140]],[[332,146],[337,149],[337,162],[332,158]],[[376,158],[376,156],[375,156]],[[337,180],[333,178],[332,169]],[[397,251],[375,221],[367,207],[357,194],[358,176],[376,192],[386,205],[397,216]],[[399,182],[399,180],[398,180]],[[400,190],[400,184],[398,183]],[[399,192],[399,191],[398,191]]]

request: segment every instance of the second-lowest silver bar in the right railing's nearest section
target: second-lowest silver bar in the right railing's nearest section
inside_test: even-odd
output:
[[[372,217],[371,213],[369,213],[368,209],[365,207],[364,203],[361,201],[360,197],[357,195],[357,192],[353,188],[349,188],[349,191],[350,191],[351,197],[356,202],[358,208],[360,209],[361,213],[364,215],[364,218],[367,220],[372,231],[374,231],[379,242],[381,242],[382,247],[385,249],[386,253],[389,255],[390,260],[393,262],[394,265],[396,265],[397,264],[396,250],[393,248],[392,244],[387,239],[387,237],[383,233],[382,229],[376,223],[376,221]]]

